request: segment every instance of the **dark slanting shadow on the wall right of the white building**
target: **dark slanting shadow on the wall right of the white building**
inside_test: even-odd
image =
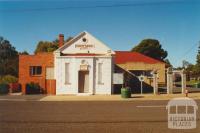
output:
[[[139,79],[119,66],[115,65],[115,73],[124,73],[124,85],[114,85],[114,94],[120,94],[122,86],[130,87],[132,93],[141,93],[141,82]],[[143,93],[153,93],[153,87],[143,82]]]

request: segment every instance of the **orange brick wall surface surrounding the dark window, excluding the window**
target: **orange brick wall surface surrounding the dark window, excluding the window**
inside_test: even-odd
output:
[[[30,66],[42,66],[42,74],[40,76],[30,75]],[[46,90],[46,67],[54,66],[53,53],[39,53],[36,55],[20,55],[19,56],[19,83],[22,85],[22,92],[26,94],[25,86],[27,83],[34,82]]]

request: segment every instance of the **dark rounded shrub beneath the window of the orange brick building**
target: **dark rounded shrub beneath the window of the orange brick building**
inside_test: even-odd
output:
[[[38,83],[28,83],[26,84],[26,94],[40,94],[41,93],[41,88]]]

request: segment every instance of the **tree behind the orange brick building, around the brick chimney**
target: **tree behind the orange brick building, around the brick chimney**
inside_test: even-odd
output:
[[[65,40],[65,43],[70,41],[72,39],[72,37],[68,37],[66,40]],[[37,47],[34,51],[34,53],[39,53],[39,52],[53,52],[55,51],[56,49],[58,49],[58,43],[59,43],[59,40],[56,39],[52,42],[50,41],[39,41],[38,44],[37,44]]]

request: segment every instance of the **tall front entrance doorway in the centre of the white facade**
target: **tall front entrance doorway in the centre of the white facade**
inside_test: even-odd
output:
[[[88,93],[89,92],[89,71],[79,71],[78,73],[78,92]]]

